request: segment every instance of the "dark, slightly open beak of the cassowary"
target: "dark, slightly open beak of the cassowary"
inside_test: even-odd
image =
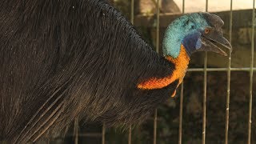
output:
[[[202,47],[197,51],[213,51],[224,56],[227,56],[227,54],[219,46],[232,51],[232,46],[230,42],[223,37],[222,31],[212,30],[209,34],[202,34],[201,41]]]

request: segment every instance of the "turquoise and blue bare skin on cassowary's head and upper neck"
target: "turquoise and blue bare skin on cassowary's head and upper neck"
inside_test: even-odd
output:
[[[187,54],[190,56],[194,50],[202,46],[200,40],[201,30],[209,26],[201,13],[186,14],[174,20],[166,29],[162,42],[162,52],[164,56],[178,58],[181,45],[185,46]]]

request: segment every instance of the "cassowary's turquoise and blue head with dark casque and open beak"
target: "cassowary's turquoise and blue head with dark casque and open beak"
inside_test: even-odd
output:
[[[232,50],[230,42],[223,37],[224,22],[215,14],[186,14],[172,22],[163,39],[163,54],[177,58],[181,47],[187,55],[196,51],[213,51],[227,55],[216,44]]]

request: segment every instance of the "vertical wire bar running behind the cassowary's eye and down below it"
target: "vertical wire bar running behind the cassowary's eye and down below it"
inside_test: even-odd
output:
[[[206,12],[208,11],[208,0],[206,0]],[[203,78],[203,113],[202,113],[202,144],[206,143],[206,92],[207,92],[207,52],[204,58]]]

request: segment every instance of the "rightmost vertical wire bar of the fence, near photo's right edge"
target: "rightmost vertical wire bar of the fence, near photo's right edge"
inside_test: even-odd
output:
[[[255,0],[254,4],[255,6]],[[255,8],[253,7],[253,18],[252,18],[252,28],[251,28],[251,62],[250,62],[250,99],[249,99],[249,118],[248,118],[248,144],[250,144],[250,133],[251,133],[251,110],[253,102],[253,68],[254,68],[254,26],[255,26]]]

